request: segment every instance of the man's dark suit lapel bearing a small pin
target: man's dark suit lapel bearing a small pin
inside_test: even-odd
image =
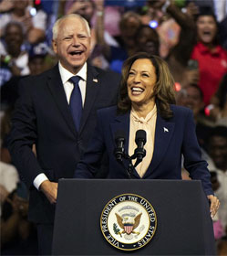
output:
[[[87,85],[86,85],[86,97],[85,104],[82,113],[82,119],[80,123],[79,133],[82,132],[87,120],[89,113],[92,110],[92,106],[97,98],[98,90],[100,88],[100,80],[98,80],[98,71],[88,65]]]

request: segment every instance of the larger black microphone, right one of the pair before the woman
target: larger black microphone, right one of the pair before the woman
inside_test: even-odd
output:
[[[144,130],[138,130],[136,133],[136,144],[137,148],[135,149],[135,154],[137,157],[136,164],[134,167],[139,165],[139,163],[142,161],[143,157],[146,155],[146,150],[144,149],[144,145],[147,142],[147,134]]]

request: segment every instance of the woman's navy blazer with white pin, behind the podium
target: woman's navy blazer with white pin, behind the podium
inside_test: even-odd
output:
[[[200,179],[207,195],[212,195],[212,184],[207,163],[201,160],[201,148],[198,144],[193,114],[190,109],[171,105],[173,117],[161,118],[157,113],[154,153],[150,166],[142,177],[150,179],[181,179],[181,159],[192,179]],[[101,155],[107,151],[109,159],[109,178],[128,178],[125,168],[117,162],[113,154],[115,134],[125,132],[125,151],[129,154],[129,112],[116,114],[117,108],[110,107],[98,111],[98,126],[88,150],[78,163],[75,172],[77,178],[90,178],[98,172]],[[150,143],[149,141],[147,144]],[[123,160],[128,166],[129,160]],[[132,176],[140,178],[135,168]]]

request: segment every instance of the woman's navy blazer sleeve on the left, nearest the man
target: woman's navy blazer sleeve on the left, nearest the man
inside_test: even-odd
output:
[[[102,131],[102,122],[98,114],[98,123],[93,136],[88,144],[86,153],[77,164],[75,178],[92,178],[98,173],[101,166],[102,155],[105,152],[105,144]]]

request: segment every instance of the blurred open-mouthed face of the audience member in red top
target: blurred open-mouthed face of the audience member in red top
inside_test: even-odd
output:
[[[213,16],[199,16],[197,19],[197,35],[204,44],[213,42],[217,34],[217,24]]]

